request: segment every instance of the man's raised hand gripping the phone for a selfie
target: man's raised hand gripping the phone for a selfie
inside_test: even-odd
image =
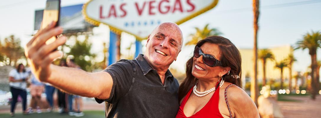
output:
[[[46,81],[50,77],[50,63],[63,55],[61,51],[53,52],[53,50],[66,42],[65,37],[57,38],[49,45],[45,43],[49,38],[63,32],[61,27],[54,27],[55,25],[56,22],[52,22],[45,29],[40,29],[24,47],[31,71],[40,81]]]

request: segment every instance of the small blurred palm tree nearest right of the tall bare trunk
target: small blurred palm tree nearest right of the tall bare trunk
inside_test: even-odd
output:
[[[265,65],[266,65],[266,59],[274,60],[274,55],[272,54],[271,50],[269,49],[262,49],[259,52],[258,58],[262,60],[263,63],[263,80],[262,80],[262,86],[265,86],[266,83],[266,76],[265,76]]]

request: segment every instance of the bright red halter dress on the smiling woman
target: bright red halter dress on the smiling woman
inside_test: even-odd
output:
[[[217,90],[215,90],[210,101],[208,101],[208,103],[200,111],[196,112],[194,115],[190,117],[186,117],[183,110],[187,102],[187,99],[191,95],[192,91],[193,88],[189,90],[186,97],[184,98],[181,106],[179,107],[176,118],[224,118],[219,111],[220,88],[217,88]]]

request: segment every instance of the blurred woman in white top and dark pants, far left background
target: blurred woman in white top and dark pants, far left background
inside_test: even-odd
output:
[[[9,73],[9,86],[12,94],[12,102],[10,109],[10,116],[14,116],[14,109],[16,107],[18,95],[22,97],[22,113],[28,114],[26,112],[26,103],[27,103],[27,80],[28,80],[28,72],[26,72],[24,65],[19,64],[16,69],[13,69]]]

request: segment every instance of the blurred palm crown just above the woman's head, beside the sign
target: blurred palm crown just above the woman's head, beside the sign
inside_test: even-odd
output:
[[[198,41],[203,40],[204,38],[207,38],[209,36],[219,36],[222,33],[213,28],[213,29],[209,29],[208,28],[209,24],[206,24],[205,27],[203,28],[203,30],[199,29],[199,28],[195,28],[196,29],[196,33],[195,34],[190,34],[190,36],[192,36],[192,40],[188,41],[185,46],[188,45],[195,45]]]

